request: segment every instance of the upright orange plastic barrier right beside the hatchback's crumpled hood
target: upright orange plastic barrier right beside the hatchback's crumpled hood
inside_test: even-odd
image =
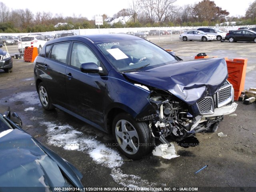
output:
[[[228,81],[234,88],[234,100],[238,101],[241,92],[244,90],[244,82],[247,67],[247,58],[225,58],[228,66]]]

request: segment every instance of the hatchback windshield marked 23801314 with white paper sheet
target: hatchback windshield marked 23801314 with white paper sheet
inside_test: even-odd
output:
[[[177,62],[170,53],[146,40],[101,42],[97,46],[119,72],[148,70]]]

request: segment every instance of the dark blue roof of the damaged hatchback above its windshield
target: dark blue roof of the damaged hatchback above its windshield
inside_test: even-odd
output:
[[[92,43],[100,43],[100,42],[118,42],[120,40],[142,40],[142,38],[127,35],[127,34],[88,34],[88,35],[74,35],[74,36],[66,36],[61,38],[56,38],[49,41],[47,44],[52,44],[56,42],[62,41],[71,41],[71,40],[90,40]]]

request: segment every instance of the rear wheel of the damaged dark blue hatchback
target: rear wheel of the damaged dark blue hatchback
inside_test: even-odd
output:
[[[39,96],[40,102],[45,110],[54,109],[54,106],[52,105],[50,96],[46,90],[46,86],[44,86],[43,82],[40,82],[40,84],[38,85],[38,96]]]

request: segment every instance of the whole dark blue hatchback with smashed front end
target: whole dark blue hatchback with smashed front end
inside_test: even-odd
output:
[[[119,150],[140,159],[158,140],[214,132],[236,110],[222,58],[181,60],[125,34],[69,36],[47,42],[34,61],[44,109],[55,107],[110,132]]]

